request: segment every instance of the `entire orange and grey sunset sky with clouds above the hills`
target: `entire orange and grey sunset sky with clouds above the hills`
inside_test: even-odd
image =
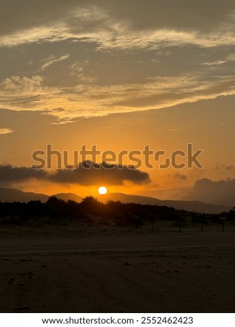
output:
[[[235,205],[234,1],[0,3],[1,187]],[[47,144],[71,161],[82,145],[170,157],[189,143],[203,168],[148,168],[142,155],[138,168],[31,169]]]

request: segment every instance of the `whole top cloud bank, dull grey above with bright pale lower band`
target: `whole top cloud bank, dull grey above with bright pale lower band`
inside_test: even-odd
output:
[[[22,1],[21,1],[22,2]],[[234,1],[6,1],[0,46],[83,40],[99,49],[234,44]],[[17,13],[17,15],[13,15]],[[134,8],[134,10],[133,10]],[[49,15],[50,13],[50,15]],[[7,19],[6,19],[7,17]],[[20,17],[20,19],[19,19]],[[200,22],[200,24],[199,24]]]

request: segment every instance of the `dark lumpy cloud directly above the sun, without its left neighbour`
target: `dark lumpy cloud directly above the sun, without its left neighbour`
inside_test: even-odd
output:
[[[109,165],[108,163],[92,163],[86,161],[79,163],[76,169],[57,170],[49,176],[49,180],[58,183],[96,185],[113,184],[120,185],[124,181],[134,184],[150,182],[149,174],[135,168],[121,165]]]

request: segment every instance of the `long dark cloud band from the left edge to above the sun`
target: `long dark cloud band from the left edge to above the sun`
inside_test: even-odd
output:
[[[27,167],[0,166],[1,186],[29,182],[31,179],[85,186],[97,184],[122,185],[124,182],[133,184],[150,182],[148,173],[128,166],[109,165],[105,162],[92,163],[92,161],[84,161],[79,163],[79,166],[75,169],[59,169],[55,173]]]

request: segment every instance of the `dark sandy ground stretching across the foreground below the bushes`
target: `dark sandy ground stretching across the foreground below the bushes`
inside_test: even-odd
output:
[[[0,312],[235,312],[235,230],[0,227]]]

